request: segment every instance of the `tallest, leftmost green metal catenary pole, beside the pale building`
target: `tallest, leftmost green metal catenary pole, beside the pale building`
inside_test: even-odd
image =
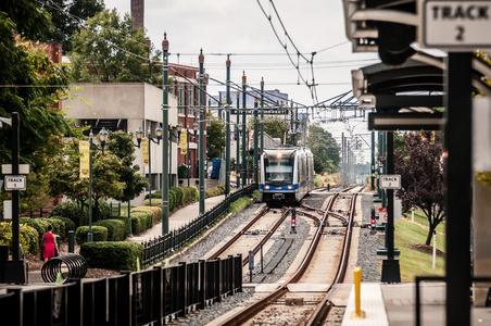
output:
[[[162,75],[162,135],[168,137],[168,40],[164,33],[162,41],[163,50],[163,75]],[[162,236],[168,234],[168,141],[162,141]]]

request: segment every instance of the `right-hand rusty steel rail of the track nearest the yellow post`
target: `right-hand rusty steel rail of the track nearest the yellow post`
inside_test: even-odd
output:
[[[344,242],[343,242],[343,248],[342,248],[343,249],[342,256],[341,256],[340,263],[338,265],[338,271],[336,273],[335,280],[329,286],[329,289],[327,290],[327,294],[324,297],[324,299],[317,305],[315,311],[312,313],[312,315],[310,316],[305,326],[322,325],[323,321],[325,319],[325,317],[329,313],[330,309],[332,308],[331,299],[333,296],[333,293],[332,293],[333,287],[338,283],[341,283],[344,280],[344,276],[347,273],[347,266],[348,266],[348,260],[350,256],[350,247],[351,247],[350,243],[351,243],[353,220],[354,220],[355,208],[356,208],[356,197],[360,192],[362,192],[362,190],[363,190],[363,188],[358,192],[354,193],[353,198],[351,200],[350,218],[349,218],[349,224],[348,224],[348,228],[347,228],[347,234],[344,237]]]

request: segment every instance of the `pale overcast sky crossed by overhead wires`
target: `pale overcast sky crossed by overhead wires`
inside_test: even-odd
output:
[[[129,13],[130,0],[104,0],[106,8],[119,14]],[[304,105],[323,102],[351,90],[351,71],[378,62],[376,53],[352,53],[345,37],[342,0],[276,0],[274,5],[294,46],[309,60],[314,57],[314,76],[317,97],[302,82],[285,49],[278,41],[268,20],[255,0],[144,0],[144,27],[156,48],[161,48],[163,33],[169,40],[169,62],[198,66],[203,49],[204,68],[212,78],[225,82],[225,61],[232,54],[231,80],[241,84],[246,72],[248,85],[260,88],[264,77],[265,89],[287,92],[289,99]],[[261,0],[281,42],[287,36],[268,0]],[[297,51],[287,43],[294,63]],[[302,77],[312,83],[312,71],[300,59]],[[300,83],[300,85],[298,85]],[[216,83],[210,82],[209,92],[217,95]],[[329,113],[330,114],[330,113]],[[366,122],[352,121],[354,133],[367,133]],[[326,129],[336,137],[343,124],[328,124]],[[344,130],[348,133],[347,130]],[[368,140],[368,138],[367,138]],[[366,155],[365,155],[366,156]],[[369,158],[369,156],[368,156]],[[365,158],[366,159],[366,158]]]

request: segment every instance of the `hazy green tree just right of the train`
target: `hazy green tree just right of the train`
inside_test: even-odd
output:
[[[336,173],[340,162],[340,148],[332,135],[319,125],[309,127],[307,147],[314,154],[314,170],[317,173]]]

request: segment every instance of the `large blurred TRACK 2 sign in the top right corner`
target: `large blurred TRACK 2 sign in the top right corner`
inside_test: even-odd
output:
[[[491,47],[491,1],[420,1],[424,47],[471,51]]]

